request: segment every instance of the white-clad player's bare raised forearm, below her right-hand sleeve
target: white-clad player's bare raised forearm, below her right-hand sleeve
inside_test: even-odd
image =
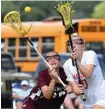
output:
[[[78,66],[81,74],[83,74],[83,76],[88,79],[91,76],[91,73],[84,65],[81,64],[81,62],[79,60],[76,60],[76,61],[77,61],[77,66]]]

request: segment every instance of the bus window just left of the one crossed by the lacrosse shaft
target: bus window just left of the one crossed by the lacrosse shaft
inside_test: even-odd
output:
[[[26,58],[26,56],[27,56],[27,40],[25,38],[20,38],[19,58]]]

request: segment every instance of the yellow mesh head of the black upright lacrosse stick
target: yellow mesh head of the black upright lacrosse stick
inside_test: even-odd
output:
[[[72,27],[72,18],[71,18],[71,14],[73,13],[72,4],[73,4],[72,2],[66,1],[61,2],[60,4],[57,5],[57,7],[55,7],[57,12],[62,17],[63,25],[65,26],[66,30]]]

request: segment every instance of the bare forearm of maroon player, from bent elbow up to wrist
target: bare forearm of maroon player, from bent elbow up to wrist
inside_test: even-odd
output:
[[[55,87],[55,80],[52,79],[49,86],[47,87],[47,90],[45,91],[45,93],[43,93],[46,99],[51,99],[54,92],[54,87]]]

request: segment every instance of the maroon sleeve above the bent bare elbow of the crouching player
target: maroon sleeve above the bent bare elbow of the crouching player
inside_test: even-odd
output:
[[[47,85],[46,74],[44,71],[41,71],[38,75],[38,86],[41,88],[44,85]]]

